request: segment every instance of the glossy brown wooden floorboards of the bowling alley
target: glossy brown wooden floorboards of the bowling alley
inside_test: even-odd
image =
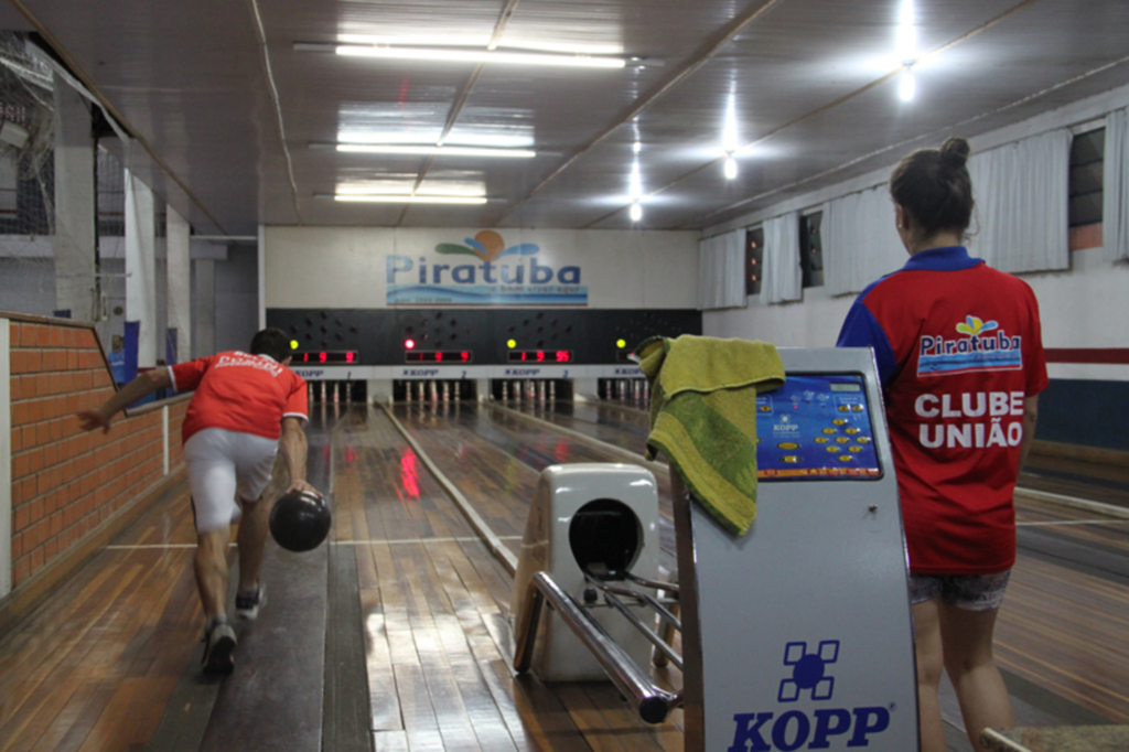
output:
[[[542,411],[541,425],[473,403],[394,414],[515,551],[544,466],[620,461],[554,425],[641,448],[646,421],[632,405],[598,404]],[[682,747],[679,711],[651,727],[607,683],[511,675],[511,578],[383,410],[323,408],[309,435],[310,478],[335,505],[331,544],[317,566],[271,560],[268,615],[240,632],[236,673],[199,675],[191,511],[169,499],[0,637],[0,751],[278,749],[256,744],[256,723],[289,749],[317,749],[318,737],[334,750]],[[1071,496],[1086,490],[1078,470],[1057,481],[1075,483]],[[1103,480],[1094,496],[1113,498],[1117,478]],[[668,515],[665,479],[660,493]],[[997,653],[1021,723],[1129,723],[1129,522],[1022,495],[1017,508]],[[669,566],[668,536],[663,548]],[[305,627],[271,622],[303,583],[329,591],[303,606],[321,613]],[[316,671],[270,673],[287,661]],[[677,672],[658,676],[681,685]],[[240,697],[269,701],[247,709]],[[951,694],[945,711],[952,749],[966,749]]]

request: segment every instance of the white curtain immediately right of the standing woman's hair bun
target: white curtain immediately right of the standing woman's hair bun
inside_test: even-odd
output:
[[[1070,139],[1068,130],[1050,131],[969,160],[972,255],[1006,272],[1070,266]]]

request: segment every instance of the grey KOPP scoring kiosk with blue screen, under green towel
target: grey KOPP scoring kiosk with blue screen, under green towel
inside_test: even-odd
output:
[[[907,554],[874,357],[780,357],[785,385],[758,400],[749,533],[725,532],[675,482],[685,749],[917,750]]]

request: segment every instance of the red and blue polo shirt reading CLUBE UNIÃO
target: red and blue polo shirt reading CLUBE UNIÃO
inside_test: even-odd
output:
[[[858,296],[838,346],[874,349],[910,570],[1012,567],[1024,399],[1047,387],[1031,288],[963,246],[924,251]]]

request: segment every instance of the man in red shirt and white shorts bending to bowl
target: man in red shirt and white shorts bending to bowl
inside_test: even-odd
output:
[[[288,491],[317,493],[306,482],[306,382],[287,367],[289,364],[286,333],[265,329],[252,339],[250,352],[219,352],[149,370],[97,410],[78,414],[85,430],[108,431],[114,416],[151,392],[163,387],[195,391],[182,434],[198,535],[196,586],[208,619],[205,673],[225,674],[235,667],[235,630],[225,611],[226,553],[231,523],[240,516],[236,615],[253,620],[266,603],[266,591],[259,579],[270,519],[263,491],[279,447],[290,472]]]

